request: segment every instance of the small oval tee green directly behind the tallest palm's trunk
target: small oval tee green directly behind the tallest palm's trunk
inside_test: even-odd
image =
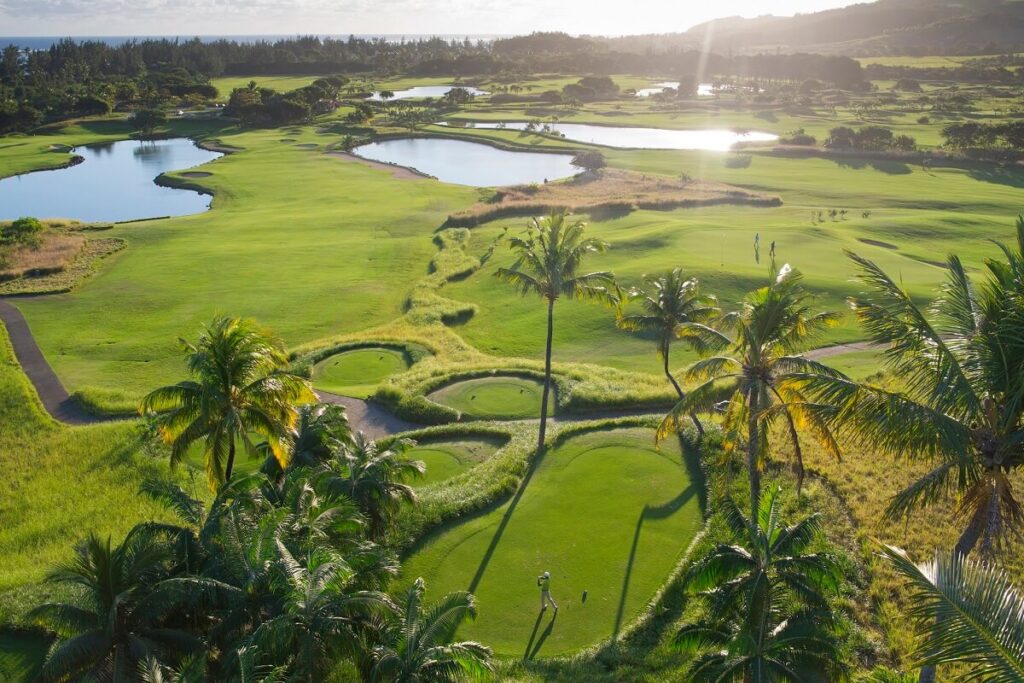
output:
[[[430,400],[476,418],[532,418],[541,413],[544,384],[522,377],[495,376],[456,382],[431,393]],[[555,412],[555,392],[548,415]]]

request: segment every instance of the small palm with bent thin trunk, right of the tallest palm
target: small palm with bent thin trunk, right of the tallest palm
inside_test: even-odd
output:
[[[679,399],[685,396],[683,388],[672,376],[669,353],[672,342],[679,338],[688,323],[706,323],[718,313],[713,296],[705,296],[699,292],[695,278],[684,279],[681,268],[673,268],[656,276],[644,279],[644,287],[630,292],[630,299],[640,301],[642,313],[617,316],[617,325],[630,332],[651,333],[657,341],[657,354],[662,358],[662,367],[666,378],[676,390]],[[693,413],[690,420],[697,433],[703,435],[703,425]]]

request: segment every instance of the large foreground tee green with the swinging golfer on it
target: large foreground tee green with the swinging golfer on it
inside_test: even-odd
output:
[[[637,616],[700,528],[694,471],[677,444],[656,450],[649,429],[571,438],[511,501],[427,539],[403,580],[423,577],[434,598],[472,591],[479,616],[459,635],[500,654],[574,652]],[[545,570],[557,617],[539,611]]]

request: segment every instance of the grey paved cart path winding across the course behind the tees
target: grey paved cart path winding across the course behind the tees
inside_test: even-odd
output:
[[[36,343],[32,330],[26,322],[25,316],[16,307],[8,301],[0,299],[0,321],[7,327],[7,334],[10,337],[11,346],[14,348],[14,355],[22,365],[26,376],[32,382],[39,397],[46,408],[46,412],[54,420],[68,425],[87,425],[98,422],[108,422],[121,418],[103,418],[92,415],[84,411],[68,394],[60,379],[53,372],[50,364],[47,362],[42,350]],[[808,358],[817,360],[827,358],[841,353],[851,351],[863,351],[881,348],[870,342],[852,342],[849,344],[837,344],[807,351]],[[361,398],[341,396],[327,391],[316,392],[319,399],[326,403],[342,405],[348,415],[349,423],[353,429],[361,431],[370,438],[378,439],[399,432],[420,429],[425,425],[419,425],[402,420],[401,418],[388,412],[383,405]],[[565,415],[550,418],[551,422],[573,423],[588,420],[628,418],[664,415],[665,411],[650,408],[621,409],[617,411],[604,411],[600,413],[588,413],[585,415]],[[538,418],[527,420],[517,420],[515,422],[538,422]]]

